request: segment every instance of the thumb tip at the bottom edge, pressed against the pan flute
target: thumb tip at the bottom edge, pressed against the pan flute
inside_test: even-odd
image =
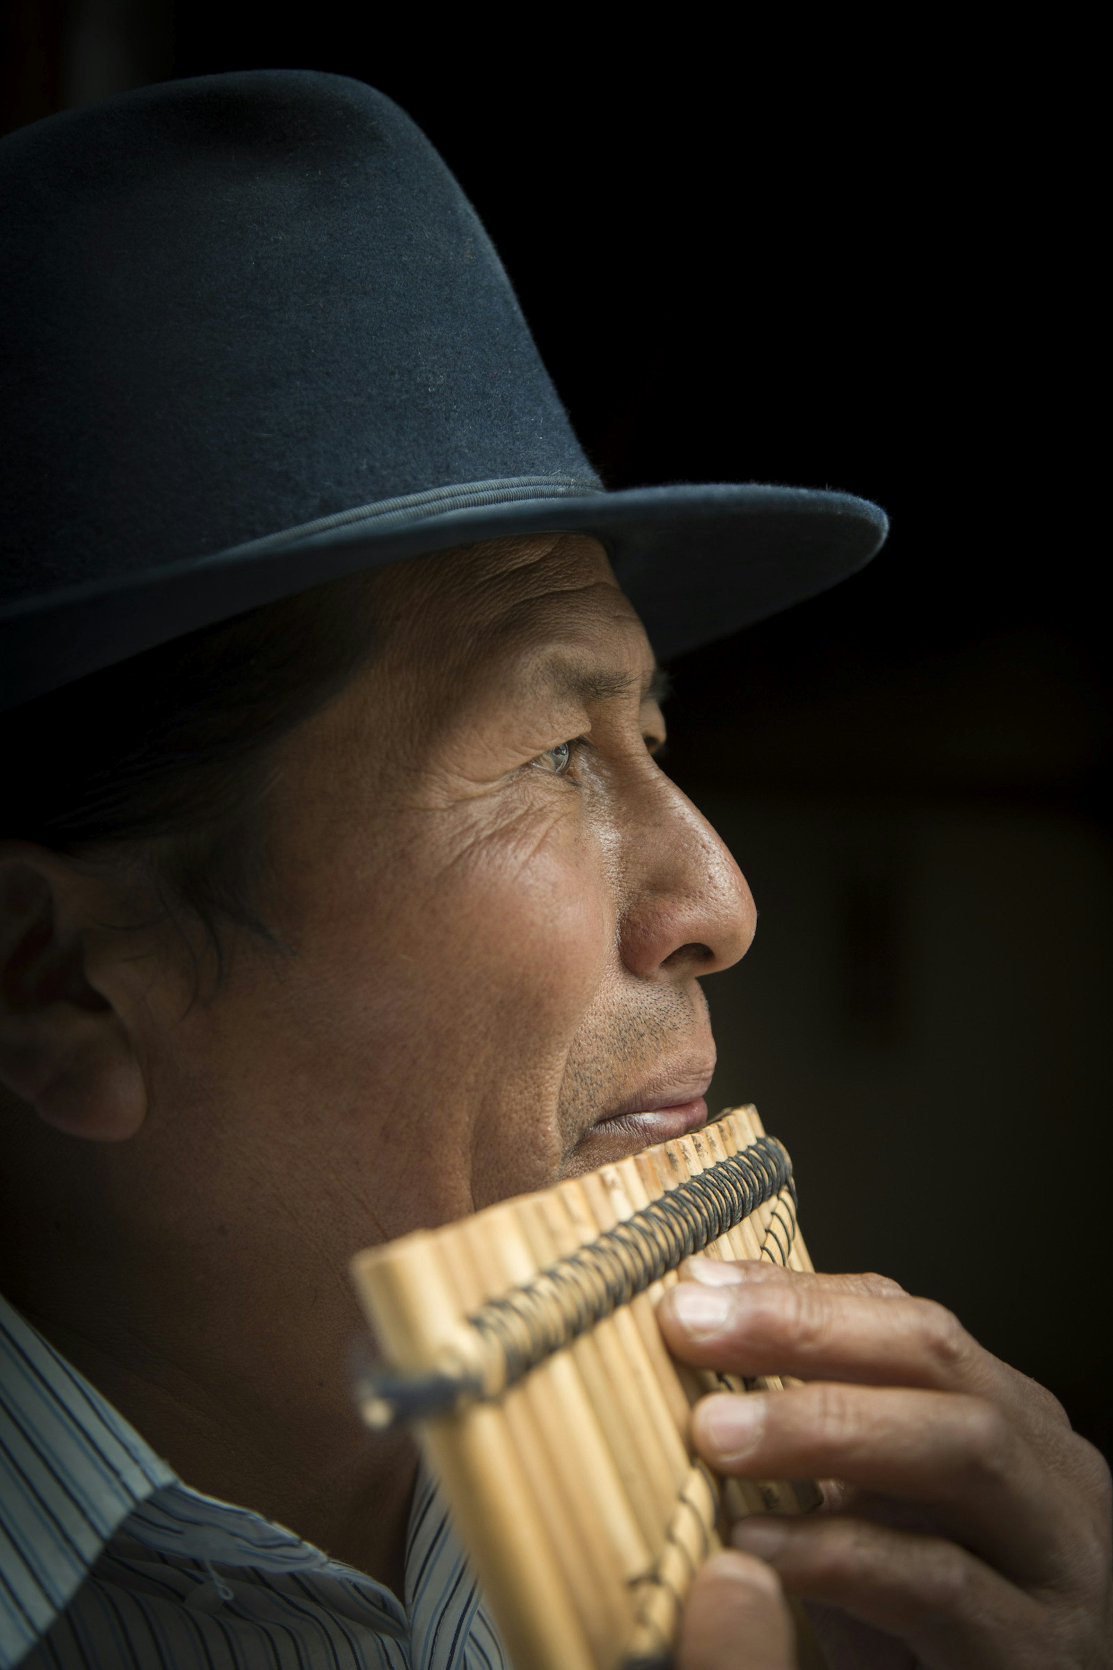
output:
[[[677,1670],[796,1670],[789,1610],[768,1565],[734,1550],[704,1563],[684,1607]]]

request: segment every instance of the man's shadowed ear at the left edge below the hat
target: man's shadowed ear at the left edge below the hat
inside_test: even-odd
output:
[[[0,843],[0,1084],[58,1131],[118,1142],[142,1126],[147,1086],[88,975],[92,934],[103,942],[97,902],[103,890],[65,858]]]

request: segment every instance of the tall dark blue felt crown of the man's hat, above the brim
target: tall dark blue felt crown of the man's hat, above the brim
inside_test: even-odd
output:
[[[0,605],[459,483],[596,484],[384,94],[164,82],[0,144]]]

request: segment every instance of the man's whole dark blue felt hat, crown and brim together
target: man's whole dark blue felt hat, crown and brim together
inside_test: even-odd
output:
[[[0,142],[0,706],[319,581],[609,549],[667,658],[866,563],[884,514],[607,493],[476,212],[362,82],[164,82]]]

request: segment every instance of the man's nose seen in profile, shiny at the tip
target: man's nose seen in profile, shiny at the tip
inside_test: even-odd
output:
[[[624,832],[622,962],[656,980],[718,974],[749,950],[753,895],[687,795],[657,767],[649,770]]]

